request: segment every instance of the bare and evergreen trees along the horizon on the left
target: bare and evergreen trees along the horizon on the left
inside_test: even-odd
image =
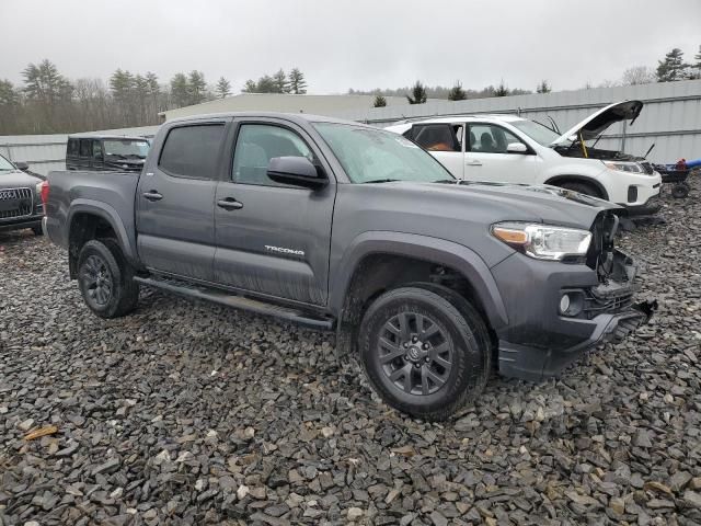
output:
[[[271,78],[278,82],[275,89],[268,88]],[[241,91],[306,93],[307,82],[298,68],[289,76],[280,69],[275,76],[262,77],[257,83],[248,81]],[[45,59],[27,65],[21,85],[0,79],[0,135],[150,126],[159,123],[159,112],[231,94],[229,80],[221,77],[215,84],[208,84],[198,70],[179,72],[162,82],[152,71],[117,69],[105,83],[95,78],[69,80]]]

